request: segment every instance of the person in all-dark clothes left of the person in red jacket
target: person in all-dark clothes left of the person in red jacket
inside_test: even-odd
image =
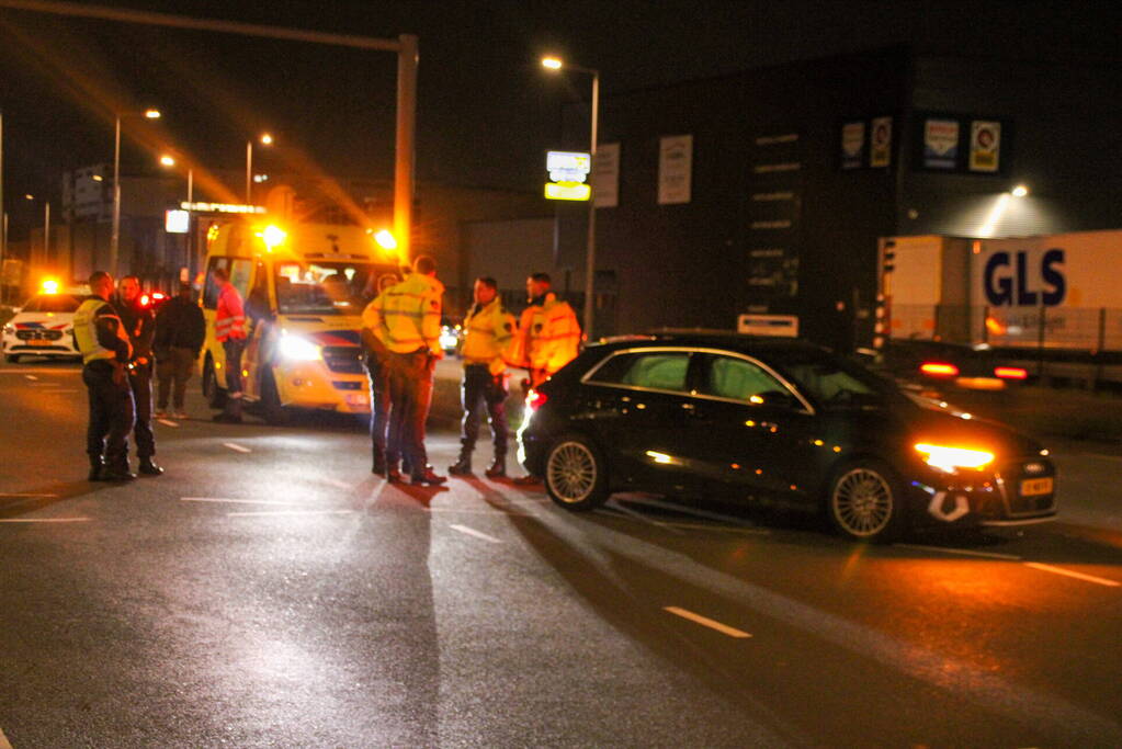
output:
[[[156,314],[156,337],[151,349],[156,353],[156,378],[159,381],[156,416],[167,416],[168,391],[175,407],[172,416],[187,418],[183,407],[187,380],[206,341],[206,320],[194,300],[191,284],[181,284],[180,293]],[[174,390],[172,383],[175,383]]]

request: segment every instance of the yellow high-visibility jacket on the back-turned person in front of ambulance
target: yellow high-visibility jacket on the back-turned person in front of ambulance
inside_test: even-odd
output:
[[[440,297],[444,285],[432,276],[410,274],[378,295],[362,312],[362,324],[394,353],[440,348]]]

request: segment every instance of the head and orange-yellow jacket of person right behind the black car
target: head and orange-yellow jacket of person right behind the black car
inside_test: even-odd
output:
[[[514,367],[530,371],[530,387],[536,388],[580,352],[580,324],[568,302],[550,290],[549,274],[533,274],[526,279],[530,306],[518,321],[507,359]]]

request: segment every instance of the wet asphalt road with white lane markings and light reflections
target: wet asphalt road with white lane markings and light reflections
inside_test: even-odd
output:
[[[864,547],[387,486],[349,418],[196,391],[94,484],[77,368],[0,366],[0,747],[1122,746],[1118,445],[1050,445],[1058,523]]]

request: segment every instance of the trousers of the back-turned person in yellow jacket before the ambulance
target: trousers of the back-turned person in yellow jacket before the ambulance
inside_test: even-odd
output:
[[[399,457],[410,463],[414,475],[429,464],[424,449],[424,424],[432,404],[432,377],[436,360],[427,351],[395,353],[387,363],[389,374],[389,433],[386,462]],[[398,454],[399,452],[399,454]]]

